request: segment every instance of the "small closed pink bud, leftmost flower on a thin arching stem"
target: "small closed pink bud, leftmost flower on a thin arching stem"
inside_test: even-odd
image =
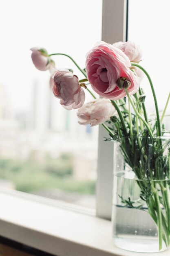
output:
[[[32,51],[32,61],[38,70],[49,70],[51,66],[55,65],[51,58],[48,56],[46,49],[41,47],[33,47],[30,50]]]

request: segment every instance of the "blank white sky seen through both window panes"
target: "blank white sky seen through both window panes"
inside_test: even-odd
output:
[[[143,49],[141,65],[151,75],[159,108],[170,90],[170,1],[130,0],[129,40]],[[31,62],[31,47],[40,45],[49,53],[70,54],[81,67],[85,55],[101,40],[102,0],[5,0],[0,1],[0,84],[10,94],[14,109],[28,109],[34,79],[48,83],[49,72],[36,70]],[[66,57],[54,57],[59,68],[73,68]],[[153,109],[147,79],[142,87],[146,104]],[[170,109],[170,106],[169,106]]]

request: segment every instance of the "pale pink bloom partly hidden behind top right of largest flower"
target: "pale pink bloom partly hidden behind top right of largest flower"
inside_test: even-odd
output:
[[[131,41],[127,42],[117,42],[114,43],[113,46],[119,48],[128,56],[131,62],[137,62],[141,61],[142,58],[142,51],[141,47],[137,45],[136,43],[133,43]]]

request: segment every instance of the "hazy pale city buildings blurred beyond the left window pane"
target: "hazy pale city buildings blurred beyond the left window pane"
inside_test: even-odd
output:
[[[73,177],[95,179],[98,127],[78,124],[77,110],[65,110],[49,89],[48,81],[34,80],[29,110],[14,110],[8,92],[0,87],[0,156],[42,162],[64,153],[73,156]],[[87,97],[88,99],[88,97]]]

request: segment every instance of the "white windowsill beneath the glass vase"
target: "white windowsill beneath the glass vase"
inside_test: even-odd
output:
[[[113,245],[109,220],[35,202],[17,193],[0,193],[0,236],[56,256],[141,256]],[[169,254],[170,250],[159,253]]]

